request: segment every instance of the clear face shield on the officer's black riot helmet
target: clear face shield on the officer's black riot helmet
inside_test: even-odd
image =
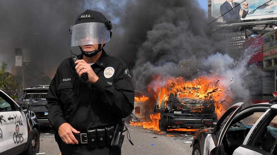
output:
[[[90,22],[72,26],[71,46],[102,44],[110,40],[110,30],[104,23]]]

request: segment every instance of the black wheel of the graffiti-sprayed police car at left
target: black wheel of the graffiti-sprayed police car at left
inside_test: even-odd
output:
[[[36,128],[32,129],[31,139],[28,149],[24,151],[24,155],[35,155],[39,152],[39,134]]]

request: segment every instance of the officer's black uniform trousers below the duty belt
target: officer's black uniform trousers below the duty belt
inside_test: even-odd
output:
[[[87,144],[66,144],[61,140],[62,155],[121,155],[121,150],[110,145],[101,148],[90,148]]]

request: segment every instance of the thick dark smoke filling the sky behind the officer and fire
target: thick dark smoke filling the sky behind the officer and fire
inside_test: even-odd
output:
[[[206,24],[211,19],[203,9],[206,1],[205,5],[199,1],[0,0],[0,62],[5,61],[10,69],[15,64],[14,48],[29,48],[27,79],[32,81],[38,72],[52,78],[62,60],[70,57],[70,25],[81,12],[91,9],[102,12],[113,23],[113,36],[105,51],[129,66],[137,90],[145,89],[155,74],[190,80],[227,71],[230,78],[237,79],[227,85],[234,91],[245,90],[239,87],[245,83],[239,77],[241,72],[234,70],[241,53],[229,51],[225,39],[207,36]],[[80,53],[79,48],[72,51]]]

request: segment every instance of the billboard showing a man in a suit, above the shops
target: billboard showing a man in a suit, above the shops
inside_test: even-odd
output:
[[[218,18],[229,10],[231,11],[220,17],[217,21],[235,21],[240,17],[242,17],[240,20],[277,17],[277,0],[272,0],[270,2],[268,2],[269,0],[248,0],[241,3],[242,1],[243,0],[212,0],[212,17]],[[262,6],[264,3],[266,4]],[[258,9],[255,10],[256,8]],[[255,10],[254,13],[247,15],[253,10]]]

